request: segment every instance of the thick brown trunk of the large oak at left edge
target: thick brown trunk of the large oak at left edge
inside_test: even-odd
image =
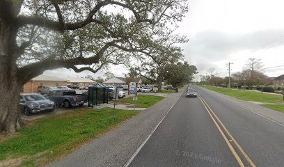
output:
[[[3,6],[0,7],[3,13]],[[9,18],[0,17],[0,132],[16,132],[19,120],[19,91],[17,79],[17,29]]]

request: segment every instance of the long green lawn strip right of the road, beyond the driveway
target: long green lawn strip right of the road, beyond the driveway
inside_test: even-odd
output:
[[[236,97],[240,100],[253,101],[253,102],[268,102],[268,103],[284,103],[283,97],[280,95],[269,95],[265,93],[256,93],[245,90],[230,90],[228,88],[219,88],[215,86],[203,86],[200,87],[207,88],[213,90],[218,93],[222,93],[224,95],[229,95],[232,97]]]

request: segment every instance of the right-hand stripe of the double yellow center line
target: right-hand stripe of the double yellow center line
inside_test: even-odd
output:
[[[251,166],[256,167],[255,164],[253,164],[253,161],[251,161],[251,159],[248,157],[248,154],[246,154],[246,152],[244,152],[244,150],[242,149],[241,145],[239,145],[239,143],[237,143],[237,141],[235,140],[234,137],[232,137],[232,134],[230,134],[230,132],[228,131],[228,129],[225,127],[225,125],[223,125],[223,122],[221,122],[221,120],[216,116],[216,114],[212,111],[212,109],[210,108],[210,106],[205,102],[205,100],[203,99],[203,97],[200,96],[200,94],[198,93],[198,97],[201,100],[201,102],[203,102],[203,105],[206,105],[206,109],[209,109],[211,111],[211,113],[214,115],[214,117],[216,118],[216,120],[218,120],[218,122],[220,123],[220,125],[223,127],[223,129],[226,131],[226,133],[228,134],[228,136],[230,136],[230,138],[232,139],[232,141],[235,143],[235,145],[237,145],[237,148],[240,150],[240,152],[242,152],[242,154],[244,155],[244,157],[246,158],[246,160],[248,161],[249,164],[251,164]]]

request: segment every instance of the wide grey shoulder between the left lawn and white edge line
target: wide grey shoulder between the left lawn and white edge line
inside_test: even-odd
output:
[[[166,95],[164,100],[141,111],[138,116],[49,166],[123,166],[183,92],[184,88],[179,93]]]

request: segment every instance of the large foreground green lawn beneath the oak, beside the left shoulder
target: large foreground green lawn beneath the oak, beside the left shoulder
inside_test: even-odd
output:
[[[17,136],[0,142],[0,164],[15,166],[18,162],[16,166],[45,166],[139,113],[116,109],[113,121],[112,111],[77,109],[37,120],[22,128]]]

